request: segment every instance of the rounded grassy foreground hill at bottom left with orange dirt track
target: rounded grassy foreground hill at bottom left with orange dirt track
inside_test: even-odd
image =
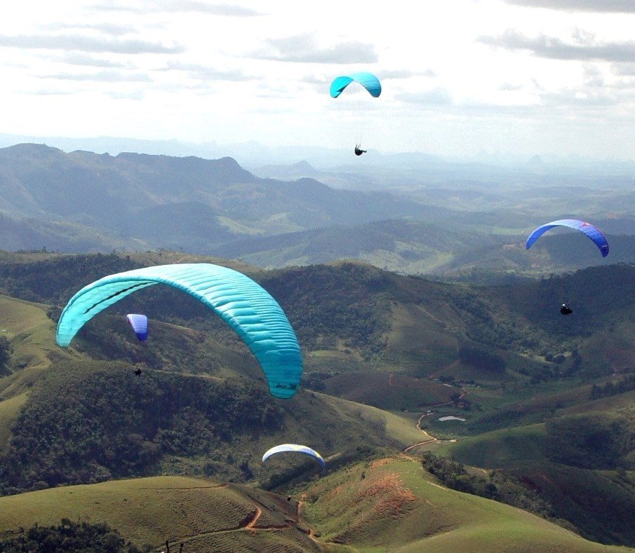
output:
[[[105,521],[138,547],[186,552],[319,551],[274,493],[191,477],[118,480],[0,498],[0,527]]]

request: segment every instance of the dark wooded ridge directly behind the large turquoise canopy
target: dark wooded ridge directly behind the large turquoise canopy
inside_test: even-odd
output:
[[[56,320],[60,308],[81,287],[104,275],[140,266],[130,256],[118,254],[54,255],[36,261],[25,259],[23,263],[0,261],[0,292],[52,304],[48,315]],[[345,346],[371,357],[385,347],[389,301],[387,277],[379,269],[345,263],[271,271],[252,278],[281,304],[302,348],[330,348],[343,341]],[[163,286],[131,294],[111,313],[115,311],[145,313],[177,324],[187,321],[187,326],[213,332],[220,339],[229,339],[232,334],[222,321],[210,317],[208,308],[200,302]]]

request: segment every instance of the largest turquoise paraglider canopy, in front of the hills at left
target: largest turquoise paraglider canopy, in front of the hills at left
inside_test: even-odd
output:
[[[198,299],[234,329],[255,355],[275,397],[295,394],[302,374],[298,339],[278,302],[233,269],[207,263],[159,265],[108,275],[67,303],[55,339],[68,346],[84,323],[137,290],[164,284]]]

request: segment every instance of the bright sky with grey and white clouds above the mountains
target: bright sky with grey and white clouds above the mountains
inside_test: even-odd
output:
[[[635,158],[634,29],[635,0],[21,0],[0,132]],[[329,97],[359,70],[379,98]]]

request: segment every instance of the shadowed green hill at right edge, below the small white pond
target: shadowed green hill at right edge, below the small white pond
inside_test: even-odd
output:
[[[579,403],[546,423],[489,432],[444,449],[460,463],[519,477],[587,538],[635,545],[633,393]]]

